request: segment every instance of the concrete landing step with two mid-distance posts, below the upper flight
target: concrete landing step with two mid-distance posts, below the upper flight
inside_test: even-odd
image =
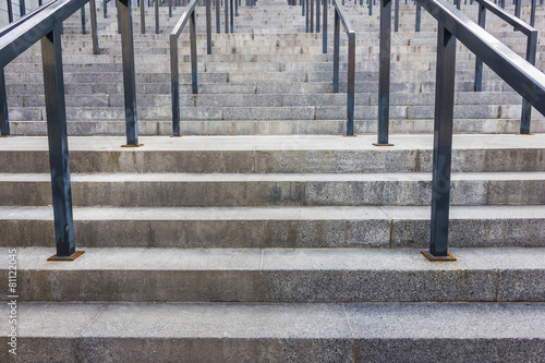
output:
[[[70,136],[70,169],[76,173],[428,173],[433,135],[392,135],[392,147],[375,135],[141,137],[122,148],[123,136]],[[453,135],[453,172],[543,171],[545,134]],[[48,173],[47,137],[2,138],[11,162],[0,173]],[[121,176],[120,176],[121,177]],[[23,178],[23,176],[21,177]],[[41,178],[41,177],[40,177]],[[124,178],[124,177],[122,177]]]

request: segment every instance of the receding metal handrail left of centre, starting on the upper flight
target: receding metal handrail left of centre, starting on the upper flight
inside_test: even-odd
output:
[[[232,1],[232,0],[231,0]],[[170,89],[172,95],[172,134],[180,136],[180,71],[178,69],[178,38],[190,22],[191,43],[191,84],[193,94],[198,93],[197,83],[197,39],[195,28],[195,8],[197,0],[191,0],[180,16],[172,32],[170,32]],[[227,8],[227,1],[226,1]],[[211,55],[211,17],[210,0],[206,0],[206,51]]]

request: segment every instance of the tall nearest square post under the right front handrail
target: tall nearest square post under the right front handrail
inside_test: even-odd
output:
[[[429,254],[448,256],[456,37],[438,23]]]

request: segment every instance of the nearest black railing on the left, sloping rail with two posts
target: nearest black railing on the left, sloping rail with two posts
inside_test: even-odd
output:
[[[75,251],[70,160],[68,150],[66,109],[62,70],[61,25],[88,0],[55,1],[33,16],[13,24],[0,37],[0,69],[41,41],[44,88],[46,98],[47,135],[55,217],[57,255],[52,259],[73,259]],[[123,84],[125,96],[126,146],[137,146],[136,94],[131,3],[119,0],[122,27]],[[3,81],[3,80],[1,80]],[[3,83],[3,82],[2,82]],[[5,105],[5,104],[4,104]]]

